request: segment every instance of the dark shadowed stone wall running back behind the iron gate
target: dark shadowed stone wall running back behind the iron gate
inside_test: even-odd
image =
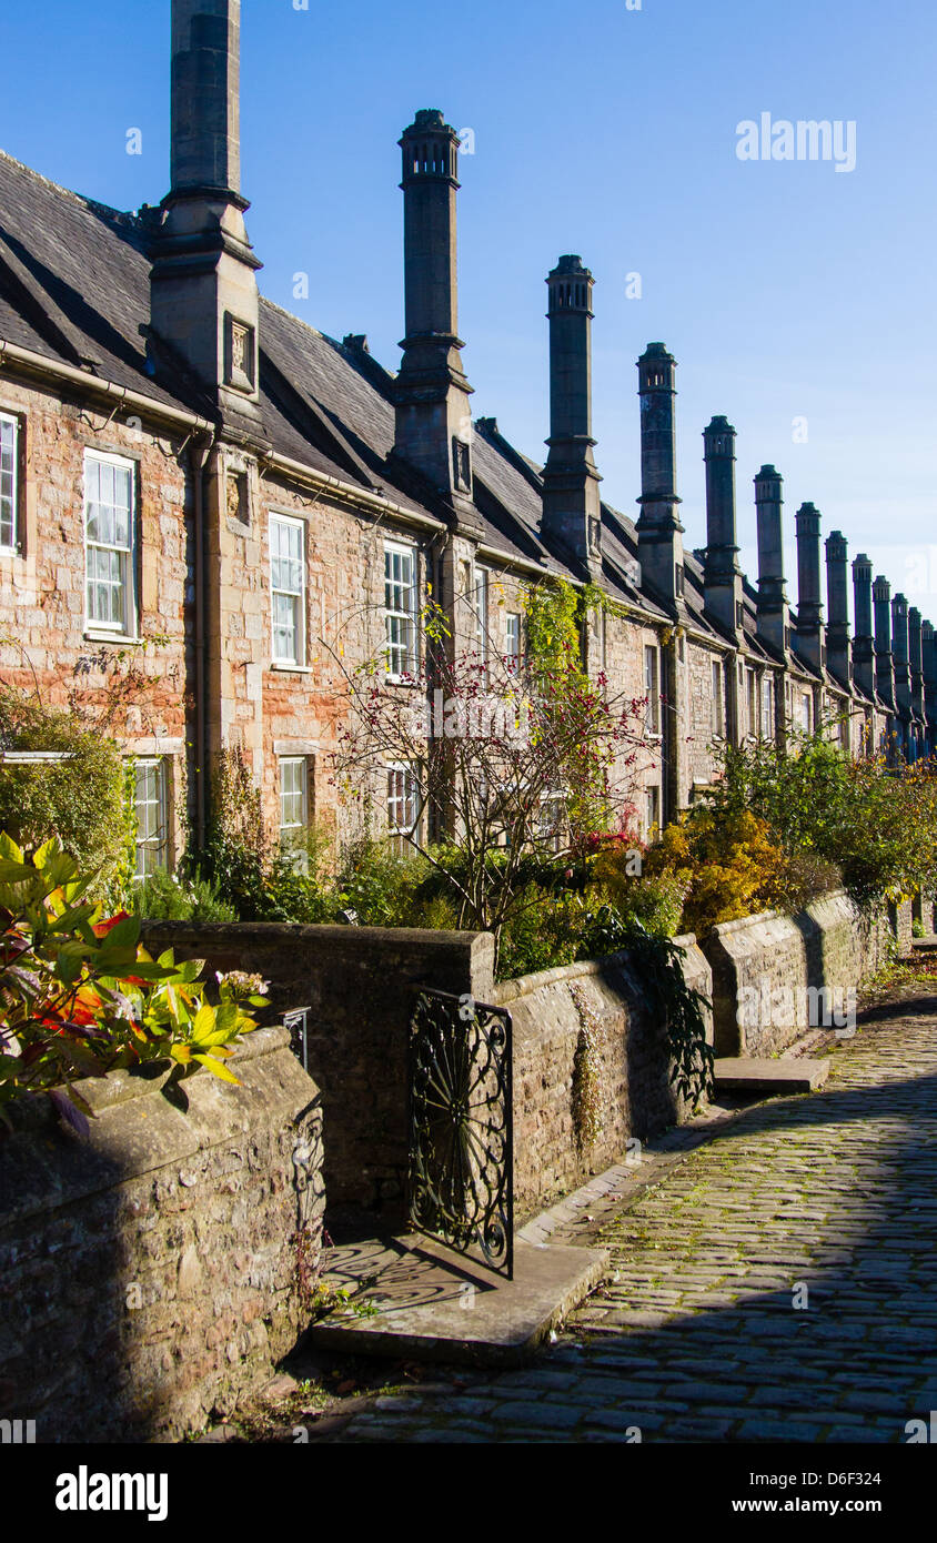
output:
[[[147,923],[150,950],[205,958],[270,981],[272,1012],[309,1012],[309,1074],[321,1091],[324,1180],[332,1216],[400,1219],[408,1168],[408,1026],[418,986],[489,1001],[486,932],[279,923]]]

